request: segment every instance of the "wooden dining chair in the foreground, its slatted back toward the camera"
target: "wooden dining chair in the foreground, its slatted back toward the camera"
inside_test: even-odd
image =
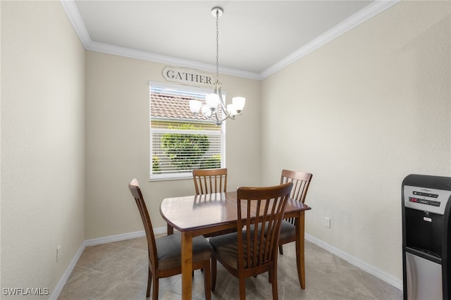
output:
[[[246,299],[245,278],[268,272],[273,299],[278,299],[277,249],[280,223],[292,183],[274,187],[238,187],[237,232],[211,237],[211,290],[216,287],[216,261],[239,278],[240,299]],[[266,232],[265,226],[268,225]],[[258,228],[255,230],[254,228]]]

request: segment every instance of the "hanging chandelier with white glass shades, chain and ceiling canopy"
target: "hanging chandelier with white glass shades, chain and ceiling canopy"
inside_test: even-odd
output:
[[[235,119],[237,115],[241,115],[241,111],[246,104],[246,98],[233,97],[232,103],[227,105],[224,102],[222,85],[219,82],[219,17],[223,15],[223,9],[221,7],[211,8],[211,15],[216,17],[216,80],[213,85],[214,93],[206,95],[205,102],[190,100],[190,111],[193,115],[202,113],[215,125],[221,125],[224,120]]]

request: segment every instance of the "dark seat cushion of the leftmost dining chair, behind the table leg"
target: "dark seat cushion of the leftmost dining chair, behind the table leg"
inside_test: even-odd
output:
[[[180,233],[166,235],[155,239],[156,255],[158,256],[158,269],[167,270],[177,268],[182,261],[182,246]],[[211,258],[213,247],[205,237],[192,238],[192,261],[206,261]]]

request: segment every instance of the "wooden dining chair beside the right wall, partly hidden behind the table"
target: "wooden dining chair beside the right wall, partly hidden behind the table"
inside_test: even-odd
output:
[[[282,170],[280,184],[292,182],[290,198],[304,203],[311,182],[311,173]],[[286,218],[280,226],[279,253],[283,254],[283,244],[296,241],[295,218]]]

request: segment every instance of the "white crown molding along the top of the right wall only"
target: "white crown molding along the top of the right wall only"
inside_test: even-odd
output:
[[[271,65],[271,67],[267,68],[266,70],[264,70],[259,74],[260,80],[264,80],[269,75],[272,75],[273,73],[276,73],[278,70],[285,68],[291,63],[294,63],[295,61],[299,60],[299,58],[302,58],[307,54],[309,54],[310,52],[319,49],[319,47],[339,37],[348,30],[351,30],[352,28],[357,27],[358,25],[364,23],[366,20],[372,18],[374,15],[377,15],[378,13],[385,11],[385,9],[389,8],[390,6],[393,6],[398,1],[400,0],[373,1],[373,3],[366,6],[361,11],[354,13],[354,15],[351,15],[349,18],[343,20],[335,27],[332,27],[330,30],[324,32],[319,37],[316,37],[316,39],[312,40],[305,46],[302,46],[302,48],[297,49],[297,51],[293,52],[292,54],[289,54],[288,56],[281,59],[277,63]]]

